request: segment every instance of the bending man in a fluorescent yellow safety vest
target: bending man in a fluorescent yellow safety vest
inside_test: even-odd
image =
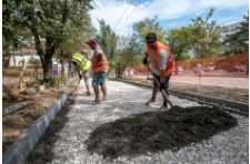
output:
[[[81,72],[82,72],[84,78],[86,89],[87,89],[86,95],[89,96],[90,95],[89,74],[90,74],[90,66],[91,66],[90,60],[88,60],[84,55],[78,52],[73,54],[71,52],[67,52],[64,57],[73,63],[74,68],[78,71],[78,75],[80,80],[82,78],[81,75]],[[80,83],[80,80],[79,80],[79,83]]]

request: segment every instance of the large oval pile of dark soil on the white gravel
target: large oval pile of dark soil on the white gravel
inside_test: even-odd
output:
[[[178,151],[237,125],[230,114],[214,107],[173,106],[168,112],[146,112],[97,127],[86,141],[90,153],[132,156]]]

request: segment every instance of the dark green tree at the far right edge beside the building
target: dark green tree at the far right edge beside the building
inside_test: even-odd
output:
[[[222,44],[229,53],[249,52],[249,16],[243,17],[246,21],[240,23],[236,33],[226,35]]]

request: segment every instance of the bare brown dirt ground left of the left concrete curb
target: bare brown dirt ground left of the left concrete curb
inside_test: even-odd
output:
[[[4,79],[7,80],[7,79]],[[7,80],[8,81],[8,80]],[[76,91],[78,79],[63,88],[47,88],[39,94],[32,94],[32,104],[22,107],[13,113],[2,115],[2,153],[12,145],[33,122],[42,115],[63,93]],[[77,91],[78,92],[78,91]],[[76,92],[76,93],[77,93]],[[12,100],[4,92],[2,93],[2,110],[27,100]]]

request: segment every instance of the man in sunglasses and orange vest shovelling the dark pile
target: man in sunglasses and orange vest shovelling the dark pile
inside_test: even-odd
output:
[[[168,95],[169,95],[168,86],[169,86],[169,80],[171,76],[172,69],[174,68],[173,57],[171,54],[169,47],[157,41],[156,33],[152,33],[152,32],[148,33],[146,35],[146,42],[147,42],[147,50],[146,50],[146,58],[143,60],[143,64],[148,66],[148,59],[149,59],[151,66],[153,69],[152,98],[146,103],[146,105],[149,105],[156,102],[156,96],[157,96],[158,90],[160,89],[163,96],[163,104],[159,110],[162,112],[168,111],[168,102],[170,102],[168,100]],[[163,93],[167,93],[167,95]]]

